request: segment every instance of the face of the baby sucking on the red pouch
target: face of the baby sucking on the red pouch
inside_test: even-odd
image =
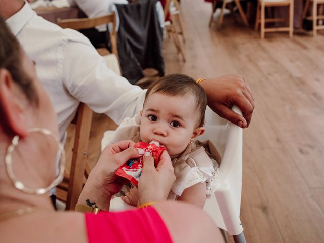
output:
[[[192,96],[166,96],[154,93],[147,97],[141,116],[141,140],[158,141],[170,157],[178,157],[198,136],[198,112]]]

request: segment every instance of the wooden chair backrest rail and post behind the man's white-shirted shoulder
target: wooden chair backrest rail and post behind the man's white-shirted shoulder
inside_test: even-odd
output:
[[[117,50],[117,32],[116,32],[116,14],[115,12],[112,12],[111,14],[96,17],[96,18],[77,18],[77,19],[57,19],[57,24],[61,28],[70,28],[75,30],[81,30],[81,29],[89,29],[94,28],[99,25],[109,23],[112,24],[111,31],[109,31],[110,34],[110,42],[111,42],[111,52],[116,55],[116,57],[119,60],[118,56],[118,50]],[[107,26],[107,30],[108,30]]]

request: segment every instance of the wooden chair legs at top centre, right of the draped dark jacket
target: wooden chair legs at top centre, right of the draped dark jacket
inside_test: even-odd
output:
[[[175,44],[176,49],[177,49],[177,52],[181,54],[182,60],[183,60],[183,62],[185,62],[186,57],[185,57],[185,54],[184,54],[184,50],[183,50],[183,47],[182,47],[182,45],[180,43],[180,40],[179,40],[178,31],[175,28],[175,23],[176,23],[176,17],[175,16],[176,15],[173,15],[170,12],[170,3],[171,3],[171,1],[172,0],[167,0],[166,4],[164,6],[165,19],[167,18],[168,14],[170,13],[170,20],[165,21],[165,29],[166,29],[166,32],[172,36],[174,44]],[[181,21],[182,21],[182,19],[181,19]],[[182,22],[181,22],[181,24],[182,24]],[[182,28],[183,28],[183,26],[182,26]],[[183,30],[181,32],[183,33]]]

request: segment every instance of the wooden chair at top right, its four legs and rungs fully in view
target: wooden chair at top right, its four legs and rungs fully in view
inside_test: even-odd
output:
[[[288,6],[288,17],[287,18],[265,18],[265,8],[266,7],[278,7],[278,6]],[[260,16],[261,13],[261,16]],[[255,30],[257,31],[259,28],[259,24],[261,23],[261,38],[264,38],[265,32],[277,32],[277,31],[288,31],[289,37],[293,37],[293,21],[294,21],[294,0],[258,0],[257,6],[257,16],[255,21]],[[288,27],[272,27],[265,28],[265,23],[268,22],[289,22]]]

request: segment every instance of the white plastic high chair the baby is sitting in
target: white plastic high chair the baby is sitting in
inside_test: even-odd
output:
[[[233,111],[242,114],[237,106]],[[242,138],[243,131],[237,125],[219,117],[209,107],[205,113],[205,133],[199,136],[200,141],[210,140],[221,155],[218,174],[218,187],[215,197],[206,199],[204,211],[207,212],[216,226],[226,230],[236,243],[245,243],[243,227],[239,218],[242,192]],[[101,141],[103,149],[109,144],[114,131],[107,131]],[[110,203],[111,211],[133,208],[114,197]]]

